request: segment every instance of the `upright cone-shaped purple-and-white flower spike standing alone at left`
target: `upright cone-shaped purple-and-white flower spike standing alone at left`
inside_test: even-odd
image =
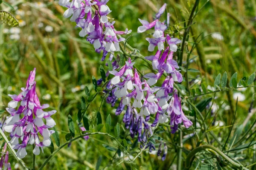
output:
[[[8,108],[6,108],[6,111],[11,115],[7,117],[3,129],[11,133],[12,139],[10,143],[14,149],[17,149],[17,156],[21,159],[27,154],[27,144],[35,144],[33,150],[35,155],[39,155],[40,147],[42,152],[44,152],[43,147],[51,144],[50,136],[55,132],[54,130],[49,130],[49,128],[56,125],[55,121],[50,117],[56,111],[43,111],[49,105],[40,104],[35,87],[34,69],[29,74],[26,88],[21,88],[22,92],[19,95],[9,95],[13,100],[8,103]],[[18,106],[18,103],[20,105],[16,110],[15,108]],[[39,140],[39,135],[43,137],[42,142]]]

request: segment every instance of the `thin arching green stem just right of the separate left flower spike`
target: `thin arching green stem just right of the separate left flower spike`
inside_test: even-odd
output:
[[[61,148],[63,148],[64,146],[66,146],[66,145],[69,144],[70,142],[73,142],[73,141],[75,141],[75,140],[77,140],[77,139],[79,139],[79,138],[82,138],[82,137],[84,137],[84,136],[96,135],[96,134],[105,135],[105,136],[110,137],[111,139],[114,139],[114,140],[122,147],[122,149],[125,151],[125,153],[127,153],[128,156],[129,156],[129,153],[127,152],[127,150],[125,150],[125,147],[123,147],[123,145],[122,145],[116,138],[114,138],[113,136],[111,136],[110,134],[108,134],[108,133],[102,133],[102,132],[87,133],[87,134],[78,136],[78,137],[76,137],[76,138],[70,139],[69,141],[67,141],[66,143],[62,144],[60,147],[58,147],[58,149],[56,149],[56,150],[47,158],[47,160],[44,161],[44,164],[40,167],[39,170],[43,170],[44,166],[48,163],[48,161],[49,161],[59,150],[61,150]]]

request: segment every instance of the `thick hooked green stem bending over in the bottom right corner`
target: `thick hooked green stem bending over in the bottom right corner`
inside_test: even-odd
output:
[[[225,155],[223,152],[221,152],[220,150],[218,150],[216,147],[212,146],[212,145],[202,145],[199,147],[196,147],[195,149],[193,149],[188,156],[186,157],[186,161],[185,161],[185,169],[189,170],[193,160],[195,159],[195,154],[202,151],[202,150],[207,150],[207,149],[211,149],[214,150],[216,153],[218,153],[220,156],[222,156],[224,159],[226,159],[230,164],[232,164],[233,167],[236,168],[244,168],[243,165],[233,161],[230,157],[228,157],[227,155]]]

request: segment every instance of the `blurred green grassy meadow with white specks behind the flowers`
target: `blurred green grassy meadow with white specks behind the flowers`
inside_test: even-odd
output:
[[[36,68],[39,99],[42,104],[49,103],[51,109],[57,110],[52,118],[57,123],[56,128],[61,144],[63,144],[66,142],[65,134],[69,131],[67,116],[70,114],[73,120],[76,120],[81,96],[85,95],[84,86],[87,85],[93,93],[91,77],[101,78],[100,65],[104,66],[105,71],[108,68],[105,66],[105,61],[101,61],[102,54],[97,54],[93,45],[90,45],[85,38],[79,37],[80,28],[75,28],[74,23],[63,17],[65,9],[58,5],[57,0],[9,0],[7,2],[14,6],[15,11],[4,4],[1,4],[0,10],[13,14],[19,20],[20,26],[10,28],[6,24],[0,25],[0,109],[5,109],[10,101],[8,94],[20,93],[20,88],[26,85],[29,71]],[[168,4],[167,11],[171,14],[169,34],[182,38],[184,21],[189,18],[189,12],[194,4],[193,0],[110,0],[107,4],[112,10],[109,16],[116,21],[115,28],[117,30],[132,29],[133,37],[128,40],[128,43],[140,50],[144,56],[152,55],[147,51],[148,42],[145,38],[151,36],[153,32],[138,34],[137,28],[141,25],[138,18],[153,21],[163,3]],[[210,89],[215,77],[225,71],[228,77],[235,72],[238,72],[238,78],[249,77],[256,69],[256,1],[210,0],[207,2],[201,0],[199,8],[201,10],[193,20],[188,41],[190,49],[196,37],[201,34],[198,39],[202,39],[198,45],[200,48],[193,51],[191,58],[194,59],[190,64],[190,68],[195,68],[200,72],[188,72],[191,88],[200,87],[204,82],[209,85]],[[163,15],[160,20],[164,21],[165,16]],[[185,63],[186,54],[184,55]],[[143,73],[150,71],[147,65],[139,59],[137,59],[136,66],[141,68],[140,71]],[[184,75],[184,72],[182,73]],[[184,82],[183,85],[185,86]],[[184,92],[187,94],[185,89]],[[239,126],[241,133],[250,127],[256,112],[252,110],[249,113],[249,108],[254,108],[255,105],[253,94],[254,89],[247,88],[240,89],[240,91],[220,92],[215,95],[212,115],[214,116],[217,110],[218,113],[215,124],[211,125],[211,118],[207,120],[207,125],[209,129],[214,129],[212,131],[221,142],[225,142],[234,119],[236,96],[239,96],[238,111],[231,135],[233,136]],[[202,98],[195,98],[195,103]],[[101,97],[97,96],[87,111],[87,115],[95,114],[99,110],[101,101]],[[112,122],[120,123],[122,136],[127,136],[128,132],[127,130],[125,132],[125,127],[121,123],[123,114],[120,116],[114,114],[117,105],[111,108],[111,105],[103,102],[102,119],[105,120],[106,116],[111,114]],[[183,106],[183,109],[187,108],[188,106]],[[5,112],[1,116],[4,119],[8,114]],[[167,127],[165,128],[167,132],[170,131]],[[254,130],[255,127],[252,131]],[[184,136],[189,133],[191,131],[185,130]],[[145,151],[132,169],[176,169],[177,147],[175,144],[178,142],[178,134],[163,133],[160,135],[168,144],[166,160],[161,161],[155,151],[151,154]],[[134,139],[130,137],[127,139],[130,139],[128,140],[129,146],[136,144]],[[218,147],[217,142],[212,142],[212,145]],[[112,147],[112,151],[108,146]],[[30,150],[27,150],[28,156],[23,159],[27,165],[32,165],[32,146],[30,147]],[[132,156],[138,151],[136,147],[138,145],[131,149]],[[192,139],[186,140],[183,147],[191,150],[195,147],[195,142]],[[122,155],[114,156],[117,148],[118,145],[114,141],[104,136],[90,136],[88,141],[79,139],[56,154],[45,169],[95,169],[99,156],[103,158],[99,169],[131,169],[123,162],[118,164],[123,158]],[[238,159],[243,164],[252,164],[256,161],[255,149],[256,147],[252,146],[251,149],[239,153]],[[45,148],[44,154],[36,156],[36,167],[40,167],[49,154],[49,149]],[[183,158],[186,158],[186,153],[183,153]],[[12,155],[10,155],[10,160],[13,169],[20,168]],[[194,169],[196,166],[202,169],[204,162],[197,161],[194,165]]]

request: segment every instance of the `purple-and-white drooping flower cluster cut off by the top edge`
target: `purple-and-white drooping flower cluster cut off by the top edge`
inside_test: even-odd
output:
[[[119,51],[119,42],[125,38],[118,39],[117,34],[130,34],[128,28],[125,31],[116,31],[114,21],[111,22],[107,16],[111,10],[106,5],[108,0],[59,0],[61,6],[68,9],[64,17],[71,17],[76,26],[82,28],[80,37],[87,36],[87,41],[93,44],[96,52],[103,51],[103,58],[108,52]],[[95,9],[95,11],[93,10]]]

